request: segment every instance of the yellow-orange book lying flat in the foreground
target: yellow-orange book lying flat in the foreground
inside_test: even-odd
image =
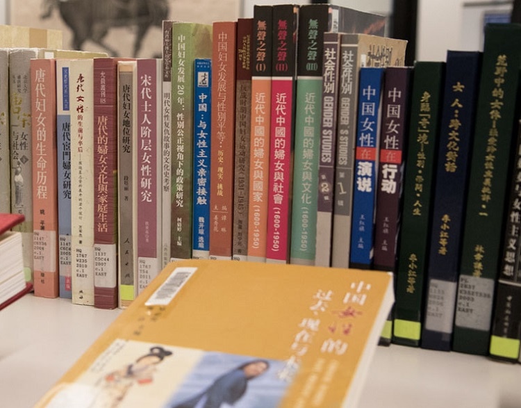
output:
[[[38,407],[356,407],[386,272],[169,263]]]

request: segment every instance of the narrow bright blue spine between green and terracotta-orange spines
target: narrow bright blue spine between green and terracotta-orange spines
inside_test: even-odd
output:
[[[195,58],[192,258],[210,257],[211,60]]]

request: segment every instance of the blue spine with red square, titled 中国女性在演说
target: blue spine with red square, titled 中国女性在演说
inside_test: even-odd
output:
[[[354,163],[352,268],[372,268],[374,211],[384,68],[362,67],[358,88],[358,120]]]

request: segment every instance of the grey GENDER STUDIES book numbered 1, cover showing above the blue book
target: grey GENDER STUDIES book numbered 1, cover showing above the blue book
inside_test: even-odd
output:
[[[338,84],[338,127],[334,177],[331,266],[347,268],[353,222],[358,74],[361,67],[403,66],[405,40],[342,33]]]

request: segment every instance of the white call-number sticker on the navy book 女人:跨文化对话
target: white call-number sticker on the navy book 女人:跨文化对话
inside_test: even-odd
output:
[[[456,282],[431,279],[425,328],[433,332],[452,333],[454,323],[454,304],[456,300]]]

